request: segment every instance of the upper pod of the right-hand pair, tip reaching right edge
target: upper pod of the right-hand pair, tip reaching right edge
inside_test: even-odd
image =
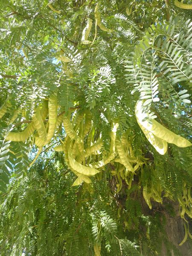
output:
[[[147,114],[142,113],[141,111],[142,105],[143,101],[140,101],[137,102],[135,106],[135,114],[139,125],[142,125],[145,129],[154,134],[156,137],[165,140],[168,143],[173,143],[178,147],[184,148],[192,145],[189,140],[186,140],[185,138],[165,128],[154,119],[150,120],[150,122],[148,120],[142,121],[143,118],[147,117]]]

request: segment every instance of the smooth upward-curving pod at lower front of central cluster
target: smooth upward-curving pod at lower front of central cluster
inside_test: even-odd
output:
[[[76,171],[79,172],[81,174],[84,175],[95,175],[96,173],[98,173],[99,171],[94,169],[94,168],[89,168],[87,166],[83,166],[80,163],[78,163],[72,155],[72,149],[69,148],[68,151],[68,156],[69,156],[69,162],[70,162],[70,166]]]

